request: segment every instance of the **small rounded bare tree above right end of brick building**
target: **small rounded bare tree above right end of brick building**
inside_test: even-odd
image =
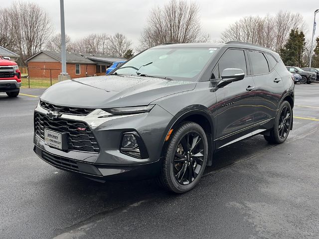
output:
[[[122,33],[116,33],[109,38],[109,54],[123,57],[132,46],[132,42]]]

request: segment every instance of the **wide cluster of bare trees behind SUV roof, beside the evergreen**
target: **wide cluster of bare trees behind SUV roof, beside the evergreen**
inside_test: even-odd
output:
[[[304,30],[305,21],[299,13],[279,11],[275,16],[245,16],[221,33],[221,40],[243,41],[279,50],[286,43],[291,29]]]

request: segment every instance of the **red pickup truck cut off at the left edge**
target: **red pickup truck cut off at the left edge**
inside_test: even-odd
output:
[[[21,87],[21,72],[18,65],[0,56],[0,92],[8,97],[17,97]]]

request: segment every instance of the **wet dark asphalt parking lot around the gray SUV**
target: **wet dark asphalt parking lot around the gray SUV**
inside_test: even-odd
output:
[[[42,89],[0,93],[0,238],[319,238],[319,84],[296,85],[294,129],[215,155],[183,195],[152,180],[94,182],[33,153]]]

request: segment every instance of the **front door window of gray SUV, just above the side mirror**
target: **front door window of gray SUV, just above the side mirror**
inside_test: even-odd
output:
[[[242,69],[245,75],[247,75],[247,66],[244,51],[235,49],[230,49],[226,51],[219,60],[218,66],[216,67],[217,71],[215,69],[213,72],[214,76],[216,77],[216,75],[218,75],[218,77],[220,77],[221,73],[226,68]]]

